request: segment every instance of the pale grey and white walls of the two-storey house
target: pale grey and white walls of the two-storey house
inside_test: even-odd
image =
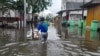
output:
[[[91,0],[84,0],[84,1],[85,3],[87,3]],[[62,0],[61,10],[80,9],[80,6],[82,5],[82,3],[83,3],[83,0]],[[70,14],[82,15],[82,11],[70,11]],[[66,15],[67,15],[66,12],[63,12],[62,16],[65,17]],[[86,15],[87,15],[87,11],[85,11],[84,13],[84,16]],[[69,17],[71,18],[71,16]]]

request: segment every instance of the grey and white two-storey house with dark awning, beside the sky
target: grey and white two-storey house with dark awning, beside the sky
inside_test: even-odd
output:
[[[61,11],[59,12],[62,18],[75,21],[82,19],[82,8],[80,6],[83,5],[83,1],[87,3],[91,0],[62,0]],[[87,10],[84,10],[84,16],[87,16]]]

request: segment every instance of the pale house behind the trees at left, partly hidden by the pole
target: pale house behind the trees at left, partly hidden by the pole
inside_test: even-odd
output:
[[[23,23],[21,21],[24,20],[23,16],[20,16],[20,13],[18,12],[18,10],[11,10],[11,9],[8,9],[8,10],[6,10],[4,12],[0,11],[0,20],[1,20],[1,22],[4,21],[3,19],[1,19],[2,17],[3,18],[4,17],[5,18],[13,18],[13,19],[11,19],[11,20],[13,20],[11,22],[9,20],[8,20],[8,22],[7,22],[7,20],[5,20],[7,22],[7,24],[13,24],[13,23],[17,24],[18,21],[20,21],[20,23]],[[14,18],[17,18],[17,20],[16,19],[14,20]],[[26,14],[26,21],[29,22],[29,21],[31,21],[31,19],[32,19],[32,13],[27,13]]]

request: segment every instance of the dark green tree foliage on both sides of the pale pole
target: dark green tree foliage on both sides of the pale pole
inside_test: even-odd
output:
[[[27,12],[32,8],[32,13],[37,13],[51,6],[51,0],[26,0]],[[24,13],[24,0],[0,0],[0,9],[14,9]]]

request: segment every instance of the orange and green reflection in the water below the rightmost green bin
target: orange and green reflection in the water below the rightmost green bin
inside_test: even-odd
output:
[[[97,31],[86,30],[84,47],[90,51],[96,51],[99,47],[98,38],[99,38],[99,36],[97,34]]]

